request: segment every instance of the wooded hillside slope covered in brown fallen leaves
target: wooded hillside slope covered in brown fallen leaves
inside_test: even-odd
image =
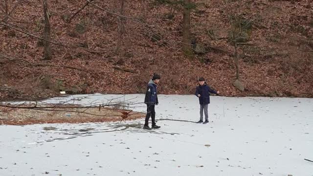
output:
[[[181,51],[180,9],[156,0],[125,0],[124,16],[131,19],[123,20],[125,33],[116,51],[119,17],[104,10],[118,14],[118,0],[94,0],[102,9],[89,4],[70,23],[66,19],[86,0],[48,2],[51,41],[58,44],[52,44],[51,61],[42,59],[40,40],[25,34],[43,36],[42,1],[27,0],[15,9],[15,2],[9,2],[9,25],[25,33],[0,26],[2,100],[24,93],[52,96],[73,87],[84,93],[142,93],[154,72],[162,76],[159,91],[164,94],[193,93],[197,78],[203,76],[225,96],[313,97],[310,0],[193,0],[193,39],[208,52],[191,60]],[[248,43],[240,46],[244,92],[232,85],[235,67],[227,33],[228,16],[234,14],[253,22]],[[1,11],[0,21],[4,18]],[[161,40],[153,42],[151,37]]]

